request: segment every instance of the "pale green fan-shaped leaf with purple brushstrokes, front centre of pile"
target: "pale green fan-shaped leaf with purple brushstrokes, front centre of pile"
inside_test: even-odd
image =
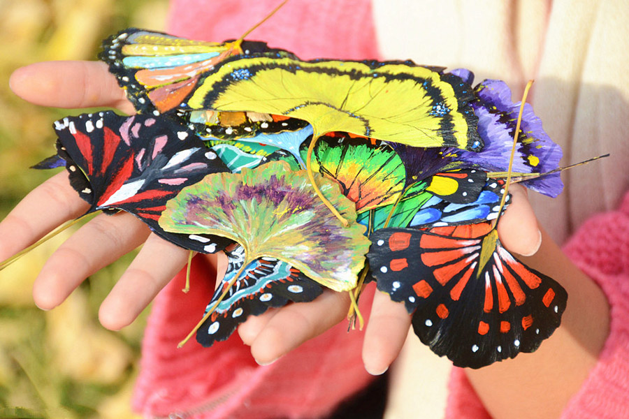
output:
[[[323,177],[317,184],[347,219],[356,219],[338,184]],[[171,233],[228,237],[245,248],[245,265],[276,258],[335,291],[354,288],[370,244],[364,226],[344,228],[321,203],[305,170],[291,171],[282,161],[187,186],[168,201],[159,225]]]

